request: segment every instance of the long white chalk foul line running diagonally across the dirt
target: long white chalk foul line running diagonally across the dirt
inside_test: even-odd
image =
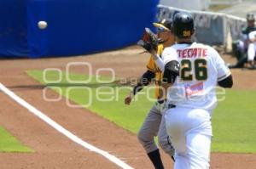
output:
[[[110,155],[108,152],[98,149],[95,146],[88,144],[84,142],[81,138],[74,135],[72,132],[69,132],[64,127],[61,127],[58,123],[51,120],[47,115],[44,115],[41,111],[37,110],[35,107],[33,107],[31,104],[28,104],[24,99],[21,99],[19,96],[17,96],[15,93],[10,91],[7,87],[4,87],[2,83],[0,83],[0,89],[3,91],[3,93],[6,93],[9,95],[10,98],[14,99],[18,104],[25,107],[27,110],[32,112],[32,114],[37,115],[41,120],[45,121],[49,124],[49,126],[54,127],[57,131],[61,132],[67,138],[71,139],[73,142],[82,145],[85,149],[90,149],[90,151],[94,151],[97,154],[103,155],[105,158],[107,158],[109,161],[112,161],[117,166],[120,166],[124,169],[133,169],[131,166],[128,166],[124,161],[119,160],[117,157]]]

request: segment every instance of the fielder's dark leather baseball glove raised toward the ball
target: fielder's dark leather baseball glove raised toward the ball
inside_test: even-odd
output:
[[[143,37],[137,42],[137,45],[143,47],[150,53],[152,49],[157,49],[158,38],[149,28],[145,28]]]

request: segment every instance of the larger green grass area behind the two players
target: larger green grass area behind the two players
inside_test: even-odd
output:
[[[143,94],[143,91],[148,88],[143,89],[141,94],[138,94],[137,100],[130,106],[126,106],[124,99],[130,92],[130,87],[121,87],[116,83],[99,84],[95,76],[91,77],[90,83],[68,83],[65,73],[62,73],[61,82],[46,84],[42,70],[29,70],[27,74],[76,104],[87,104],[91,101],[90,105],[84,105],[84,107],[134,133],[138,132],[145,115],[154,103],[153,100],[148,101],[146,95]],[[69,77],[80,81],[89,78],[86,75],[73,74]],[[58,78],[58,74],[54,71],[46,74],[48,81]],[[108,77],[101,78],[108,79]],[[96,91],[99,88],[105,92],[105,95],[98,96],[98,98],[111,99],[111,101],[96,99]],[[254,132],[256,112],[253,109],[255,95],[256,91],[226,90],[226,99],[220,102],[213,112],[213,152],[256,153],[256,132]],[[150,96],[154,98],[153,90]]]

